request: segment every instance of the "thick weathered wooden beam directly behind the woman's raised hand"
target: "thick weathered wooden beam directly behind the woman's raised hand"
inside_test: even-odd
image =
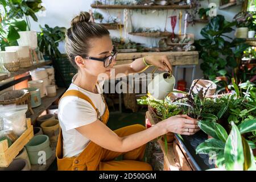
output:
[[[199,53],[197,51],[181,52],[131,52],[118,53],[117,65],[132,63],[135,59],[148,55],[165,55],[170,63],[175,65],[197,65],[199,63]]]

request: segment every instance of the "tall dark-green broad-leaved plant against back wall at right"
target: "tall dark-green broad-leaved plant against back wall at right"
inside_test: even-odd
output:
[[[243,51],[249,47],[245,39],[232,40],[225,35],[232,32],[232,27],[236,24],[236,22],[227,22],[222,15],[217,15],[201,30],[204,39],[196,40],[196,47],[200,59],[203,59],[200,68],[206,79],[214,80],[218,76],[230,78],[231,75],[226,70],[238,67],[236,59],[242,57]]]

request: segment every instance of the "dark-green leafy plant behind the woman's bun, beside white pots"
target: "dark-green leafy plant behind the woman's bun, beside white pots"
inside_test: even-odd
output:
[[[57,48],[59,42],[65,39],[64,27],[51,28],[47,24],[43,28],[40,26],[41,32],[38,33],[38,46],[39,50],[43,52],[44,56],[61,57],[61,53]]]

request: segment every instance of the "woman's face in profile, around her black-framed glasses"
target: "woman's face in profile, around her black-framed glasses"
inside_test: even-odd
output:
[[[113,51],[113,44],[110,36],[103,36],[102,38],[94,38],[90,41],[90,49],[88,52],[88,57],[96,57],[100,59],[104,59],[105,57],[111,56]],[[113,65],[115,64],[115,60],[112,60],[112,63],[105,68],[103,61],[84,59],[84,64],[86,71],[90,73],[90,75],[98,76],[100,74],[104,74],[106,77],[110,77],[110,69],[113,69]]]

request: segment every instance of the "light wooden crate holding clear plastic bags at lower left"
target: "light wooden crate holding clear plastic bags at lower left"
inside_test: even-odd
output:
[[[0,167],[8,167],[32,137],[34,137],[33,126],[30,118],[27,118],[27,130],[10,147],[7,140],[0,142]]]

